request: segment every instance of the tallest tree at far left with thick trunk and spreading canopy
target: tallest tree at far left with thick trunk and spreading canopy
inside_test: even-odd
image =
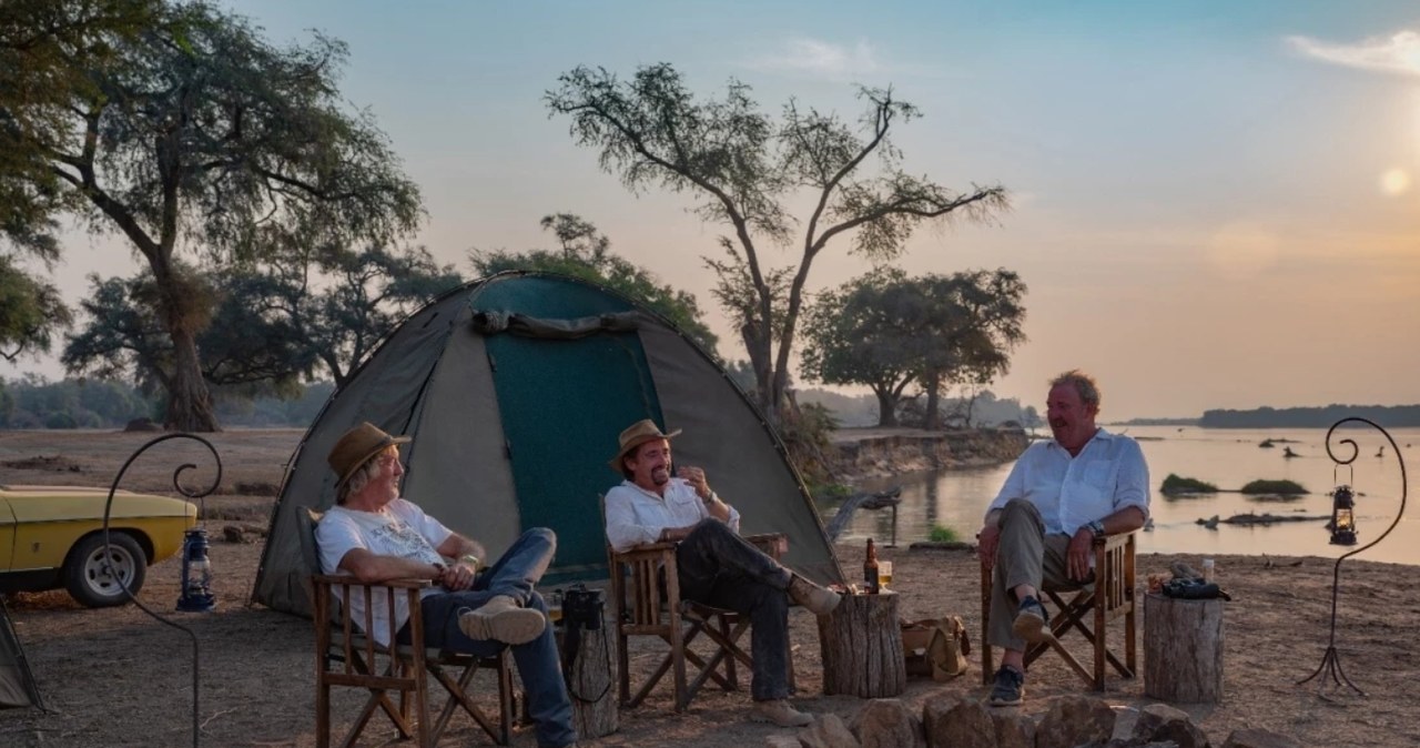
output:
[[[23,40],[11,51],[26,61],[0,87],[0,194],[23,202],[7,236],[45,236],[55,216],[74,214],[126,238],[170,338],[165,424],[214,430],[196,348],[210,297],[178,251],[220,263],[273,236],[385,241],[416,227],[417,189],[372,116],[341,101],[339,41],[277,48],[203,3],[6,6],[0,38]]]

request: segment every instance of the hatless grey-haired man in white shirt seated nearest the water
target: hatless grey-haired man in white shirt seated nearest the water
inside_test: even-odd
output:
[[[1078,369],[1051,382],[1051,441],[1027,447],[987,508],[981,563],[995,569],[990,643],[1004,650],[993,705],[1025,693],[1025,646],[1049,637],[1042,582],[1093,582],[1091,546],[1149,518],[1149,466],[1139,444],[1095,426],[1099,387]]]

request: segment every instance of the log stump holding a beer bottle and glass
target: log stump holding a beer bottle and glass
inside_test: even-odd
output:
[[[897,595],[845,595],[818,619],[824,693],[885,698],[907,688]]]

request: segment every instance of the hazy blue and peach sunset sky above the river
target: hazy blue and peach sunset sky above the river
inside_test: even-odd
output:
[[[1413,1],[227,6],[275,41],[349,44],[344,94],[422,187],[417,241],[464,274],[471,248],[551,246],[538,219],[571,211],[713,307],[699,257],[724,229],[683,197],[630,194],[574,146],[542,102],[564,71],[669,61],[700,95],[738,78],[768,111],[797,97],[851,119],[853,84],[890,84],[923,112],[896,132],[909,172],[1014,196],[997,226],[923,231],[900,261],[1021,274],[1030,342],[998,395],[1041,406],[1079,366],[1106,419],[1420,402]],[[845,248],[811,288],[866,270]],[[58,278],[72,301],[85,273],[128,260],[77,234]],[[713,326],[743,358],[719,309]]]

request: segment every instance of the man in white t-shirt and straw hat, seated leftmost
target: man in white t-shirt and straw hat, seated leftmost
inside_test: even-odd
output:
[[[493,565],[477,541],[464,538],[399,498],[399,444],[393,437],[362,423],[345,433],[328,461],[335,474],[337,505],[315,531],[321,566],[327,573],[346,573],[361,582],[429,579],[435,586],[420,596],[425,643],[477,656],[513,647],[513,659],[527,687],[528,715],[537,724],[540,747],[575,745],[572,703],[567,695],[557,640],[547,625],[547,603],[534,589],[557,551],[551,529],[523,534]],[[389,646],[388,599],[373,598],[372,632]],[[346,600],[352,617],[365,620],[364,596]],[[409,610],[396,598],[395,629],[409,642]]]

